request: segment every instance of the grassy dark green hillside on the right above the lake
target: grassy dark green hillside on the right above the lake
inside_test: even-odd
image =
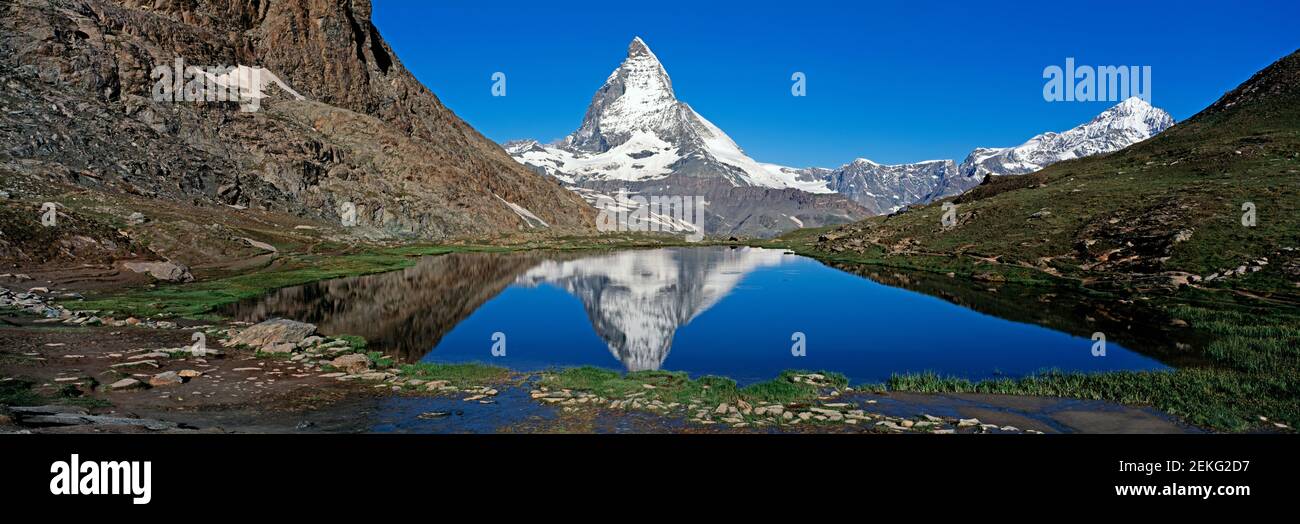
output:
[[[1297,177],[1300,52],[1152,139],[985,178],[953,200],[952,228],[931,204],[828,231],[814,248],[854,259],[937,257],[932,264],[974,273],[1001,264],[1295,295]]]

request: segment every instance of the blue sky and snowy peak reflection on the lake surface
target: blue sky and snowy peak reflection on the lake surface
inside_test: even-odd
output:
[[[491,334],[507,354],[490,355]],[[807,355],[790,355],[792,334]],[[599,365],[724,374],[783,369],[853,381],[935,371],[968,378],[1041,369],[1162,368],[1112,342],[979,313],[780,251],[722,247],[545,260],[456,324],[424,359],[516,369]]]

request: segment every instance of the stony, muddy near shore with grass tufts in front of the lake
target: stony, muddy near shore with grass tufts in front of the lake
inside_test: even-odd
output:
[[[689,378],[673,372],[564,368],[520,373],[482,364],[395,364],[348,338],[311,341],[289,354],[240,346],[196,358],[176,348],[121,350],[151,341],[185,341],[185,328],[129,328],[138,337],[100,352],[46,341],[103,337],[100,332],[112,328],[20,329],[27,332],[0,329],[0,339],[29,338],[32,348],[40,347],[31,351],[40,355],[34,358],[74,361],[42,365],[39,380],[18,380],[26,387],[0,381],[5,400],[0,403],[14,404],[0,408],[3,430],[369,432],[382,424],[358,419],[354,411],[380,411],[382,419],[384,406],[391,403],[419,407],[404,416],[407,425],[424,428],[407,430],[419,432],[614,430],[627,424],[632,424],[627,430],[650,433],[1057,433],[1122,432],[1132,424],[1160,432],[1195,430],[1144,410],[1063,399],[1057,403],[1071,408],[1058,411],[1074,421],[1040,416],[1041,399],[1031,398],[970,402],[966,395],[922,395],[927,400],[900,402],[898,393],[852,387],[833,373],[785,372],[737,387],[723,377]],[[207,332],[217,337],[221,329]],[[347,371],[333,365],[347,361],[368,364]],[[3,368],[14,369],[9,361]],[[157,378],[185,376],[186,369],[199,373],[176,381]],[[68,377],[77,380],[62,380]],[[118,377],[138,384],[120,385]],[[473,412],[473,421],[463,426],[458,421],[465,412]]]

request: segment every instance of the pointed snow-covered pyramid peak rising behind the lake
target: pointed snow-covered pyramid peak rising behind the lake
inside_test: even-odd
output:
[[[711,234],[768,235],[864,216],[803,172],[750,159],[723,130],[677,100],[640,38],[592,98],[582,125],[555,144],[506,144],[520,163],[599,194],[705,196]]]

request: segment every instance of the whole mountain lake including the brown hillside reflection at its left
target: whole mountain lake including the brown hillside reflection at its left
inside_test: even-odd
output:
[[[520,371],[598,365],[748,384],[783,369],[863,382],[923,371],[978,380],[1165,368],[1148,355],[1173,342],[1105,308],[1061,293],[844,270],[780,250],[684,247],[429,256],[228,312],[363,335],[408,361]],[[1109,338],[1105,356],[1093,356],[1093,332]]]

